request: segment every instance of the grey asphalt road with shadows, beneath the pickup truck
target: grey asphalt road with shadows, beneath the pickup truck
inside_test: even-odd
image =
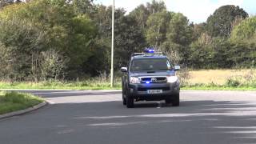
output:
[[[255,144],[256,92],[182,91],[122,106],[119,91],[30,91],[53,102],[0,120],[1,144]]]

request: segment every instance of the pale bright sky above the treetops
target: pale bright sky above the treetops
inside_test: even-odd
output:
[[[166,3],[170,11],[180,12],[190,19],[190,22],[206,22],[214,10],[224,5],[240,6],[248,14],[256,14],[256,0],[158,0]],[[113,0],[94,0],[94,3],[101,3],[105,6],[112,5]],[[116,7],[124,8],[129,14],[140,4],[146,4],[151,0],[115,0]]]

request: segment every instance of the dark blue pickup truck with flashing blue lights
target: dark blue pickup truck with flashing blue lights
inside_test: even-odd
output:
[[[127,67],[122,67],[122,102],[128,108],[138,101],[161,101],[179,106],[179,80],[169,59],[152,49],[134,53]]]

